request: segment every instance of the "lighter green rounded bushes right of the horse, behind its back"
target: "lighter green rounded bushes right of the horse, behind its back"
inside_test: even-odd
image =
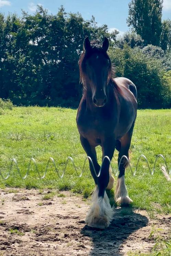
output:
[[[143,53],[139,47],[131,49],[124,45],[123,50],[110,49],[111,60],[115,65],[116,76],[129,78],[138,91],[138,105],[141,108],[161,108],[171,106],[171,84],[169,73],[161,60]]]

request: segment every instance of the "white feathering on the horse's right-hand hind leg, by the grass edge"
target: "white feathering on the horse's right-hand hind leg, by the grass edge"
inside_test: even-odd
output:
[[[133,202],[128,196],[124,175],[121,178],[117,179],[115,189],[115,201],[121,205],[130,204]]]

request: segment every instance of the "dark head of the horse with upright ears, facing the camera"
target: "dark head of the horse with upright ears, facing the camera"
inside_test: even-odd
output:
[[[104,39],[100,45],[98,40],[84,40],[84,51],[80,58],[80,81],[92,92],[92,100],[96,107],[103,107],[107,102],[106,86],[112,73],[112,66],[107,50],[109,40]]]

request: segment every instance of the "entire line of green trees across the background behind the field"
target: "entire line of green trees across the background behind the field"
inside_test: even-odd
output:
[[[22,17],[0,13],[0,98],[16,105],[78,107],[78,61],[88,35],[109,38],[116,76],[136,84],[139,107],[171,107],[171,21],[161,21],[161,11],[161,0],[132,0],[132,29],[122,37],[117,30],[109,33],[106,24],[98,26],[93,16],[84,20],[63,6],[55,15],[42,6]]]

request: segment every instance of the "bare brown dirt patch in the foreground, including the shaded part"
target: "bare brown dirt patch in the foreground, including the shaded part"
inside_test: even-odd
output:
[[[106,230],[84,223],[89,203],[81,196],[62,192],[43,200],[38,190],[0,190],[0,255],[115,255],[149,252],[152,226],[162,228],[167,238],[171,215],[150,220],[146,211],[114,210],[114,220]],[[16,233],[12,233],[16,232]]]

